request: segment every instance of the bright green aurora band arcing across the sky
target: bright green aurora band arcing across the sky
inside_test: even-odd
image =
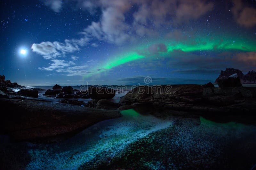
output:
[[[226,38],[227,39],[227,38]],[[196,51],[236,51],[236,52],[252,52],[256,51],[255,41],[248,39],[236,39],[236,40],[223,40],[223,39],[195,39],[194,41],[175,42],[171,40],[155,41],[146,46],[140,46],[133,48],[126,54],[116,55],[108,62],[100,63],[95,69],[89,70],[91,73],[85,75],[83,78],[91,77],[93,74],[98,74],[107,71],[113,67],[120,66],[134,60],[140,60],[156,56],[151,54],[148,47],[154,44],[164,44],[166,46],[166,52],[159,52],[157,56],[171,57],[172,52],[175,50],[181,50],[183,52],[196,52]],[[142,51],[142,52],[141,52]]]

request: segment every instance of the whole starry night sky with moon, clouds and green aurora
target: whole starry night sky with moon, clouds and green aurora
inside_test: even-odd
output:
[[[214,82],[256,70],[256,1],[1,2],[0,74],[20,85]]]

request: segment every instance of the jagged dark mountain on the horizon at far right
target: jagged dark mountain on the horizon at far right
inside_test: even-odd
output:
[[[219,77],[215,80],[215,83],[219,79],[226,79],[232,74],[237,74],[240,77],[242,84],[256,84],[256,72],[255,71],[249,71],[247,74],[243,74],[241,70],[234,69],[234,68],[226,68],[225,71],[220,72]]]

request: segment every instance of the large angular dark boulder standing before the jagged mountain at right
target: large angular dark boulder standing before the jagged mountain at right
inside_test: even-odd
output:
[[[231,75],[227,79],[219,79],[218,85],[220,88],[227,88],[227,87],[242,87],[242,83],[240,81],[239,76],[236,74]]]

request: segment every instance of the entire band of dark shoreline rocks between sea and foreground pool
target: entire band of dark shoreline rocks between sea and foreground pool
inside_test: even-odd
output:
[[[120,110],[134,109],[139,113],[162,110],[156,116],[161,113],[164,115],[165,110],[168,113],[186,112],[206,116],[249,115],[256,111],[256,88],[232,83],[234,87],[229,87],[230,83],[224,83],[223,86],[228,84],[228,87],[222,88],[215,88],[210,82],[203,86],[172,85],[168,93],[159,92],[157,88],[166,89],[170,85],[139,86],[123,96],[119,103],[114,103],[108,100],[115,96],[114,89],[90,87],[87,91],[80,92],[74,91],[71,86],[62,88],[55,85],[45,95],[60,100],[49,102],[37,99],[38,91],[42,89],[24,89],[23,86],[16,85],[16,88],[20,88],[16,93],[3,81],[0,104],[8,112],[1,113],[1,133],[18,141],[69,136],[97,122],[121,117]],[[139,92],[139,89],[144,92]],[[34,98],[28,99],[25,96]],[[76,100],[78,97],[89,97],[92,100],[84,103]]]

